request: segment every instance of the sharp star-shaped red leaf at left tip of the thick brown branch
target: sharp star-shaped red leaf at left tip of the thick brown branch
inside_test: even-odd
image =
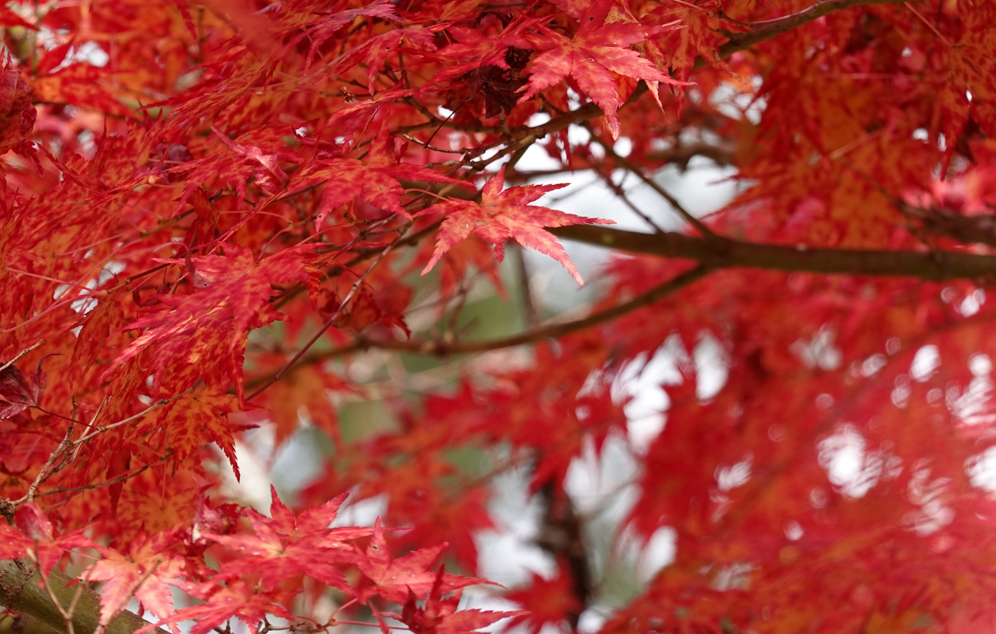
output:
[[[499,262],[502,259],[505,240],[512,238],[522,246],[545,253],[560,262],[578,284],[585,284],[571,258],[564,251],[564,247],[553,234],[544,231],[543,228],[581,224],[614,225],[616,222],[583,218],[548,207],[527,204],[548,191],[560,189],[565,185],[523,185],[502,191],[504,184],[505,167],[502,166],[498,173],[484,183],[480,203],[470,200],[447,200],[422,212],[446,214],[439,227],[435,251],[422,270],[422,275],[431,271],[444,253],[473,232],[485,242],[494,245]]]

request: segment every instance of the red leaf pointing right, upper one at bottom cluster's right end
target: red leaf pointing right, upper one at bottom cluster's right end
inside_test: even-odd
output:
[[[377,518],[373,525],[373,539],[367,546],[366,556],[360,557],[357,561],[360,571],[373,581],[372,587],[361,590],[359,594],[360,600],[365,603],[373,596],[403,603],[411,595],[427,596],[433,588],[449,592],[479,583],[497,585],[485,579],[430,572],[428,566],[446,548],[448,545],[446,543],[421,548],[392,559],[384,533],[384,529],[380,528],[380,519]]]

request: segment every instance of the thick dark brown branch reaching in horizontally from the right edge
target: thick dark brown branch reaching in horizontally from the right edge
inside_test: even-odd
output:
[[[960,251],[872,251],[707,239],[679,233],[644,234],[595,225],[551,229],[554,235],[616,249],[694,260],[715,268],[867,275],[921,280],[980,280],[996,276],[996,256]]]

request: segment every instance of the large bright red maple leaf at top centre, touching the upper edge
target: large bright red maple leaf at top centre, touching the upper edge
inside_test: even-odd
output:
[[[679,84],[666,73],[657,70],[649,60],[628,47],[639,44],[651,35],[677,28],[674,25],[648,27],[638,22],[606,22],[614,2],[601,0],[588,7],[579,18],[574,36],[567,37],[548,26],[539,26],[540,37],[528,38],[529,44],[543,51],[531,63],[529,84],[519,103],[526,102],[541,91],[571,76],[578,87],[605,112],[613,138],[620,134],[619,82],[613,73],[635,80]]]

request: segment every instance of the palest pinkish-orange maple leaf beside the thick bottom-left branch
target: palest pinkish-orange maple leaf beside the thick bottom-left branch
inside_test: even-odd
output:
[[[83,578],[104,581],[101,589],[101,624],[109,624],[133,596],[159,618],[173,611],[172,590],[166,585],[183,573],[179,554],[169,552],[175,543],[173,530],[144,534],[139,531],[126,545],[127,554],[109,546],[94,546],[102,559],[94,562]]]

